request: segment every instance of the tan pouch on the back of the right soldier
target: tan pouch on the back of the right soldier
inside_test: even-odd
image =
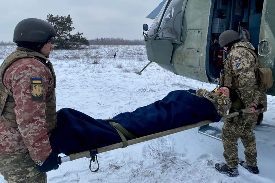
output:
[[[273,85],[272,71],[270,68],[258,68],[261,89],[270,89]]]

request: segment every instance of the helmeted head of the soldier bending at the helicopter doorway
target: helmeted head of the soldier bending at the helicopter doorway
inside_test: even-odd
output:
[[[233,44],[241,41],[238,33],[233,30],[227,30],[219,36],[219,45],[228,53]]]

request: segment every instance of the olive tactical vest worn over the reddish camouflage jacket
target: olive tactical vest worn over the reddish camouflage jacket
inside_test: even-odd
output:
[[[50,132],[56,126],[56,97],[55,97],[55,87],[56,87],[56,76],[54,73],[54,68],[50,60],[48,60],[44,55],[38,52],[29,52],[29,51],[14,51],[11,53],[2,63],[0,67],[0,121],[3,121],[6,126],[11,128],[18,128],[16,123],[16,115],[14,113],[14,108],[16,106],[13,99],[13,93],[9,90],[3,83],[3,76],[7,68],[15,62],[17,59],[32,57],[36,60],[39,60],[41,63],[46,65],[53,76],[54,87],[48,98],[46,98],[46,123],[47,130]],[[44,62],[42,60],[47,60]]]

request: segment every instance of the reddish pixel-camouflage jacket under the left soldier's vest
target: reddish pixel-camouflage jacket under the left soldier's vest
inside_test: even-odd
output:
[[[42,79],[44,99],[32,100],[31,78]],[[17,59],[7,68],[3,84],[12,91],[18,128],[11,128],[0,121],[0,154],[29,151],[34,162],[40,163],[52,152],[46,128],[45,98],[54,91],[54,81],[50,69],[35,58]]]

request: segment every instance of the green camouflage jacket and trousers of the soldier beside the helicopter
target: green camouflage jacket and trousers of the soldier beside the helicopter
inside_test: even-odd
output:
[[[224,83],[221,86],[228,86],[239,95],[242,106],[247,108],[250,104],[264,104],[264,109],[259,112],[266,112],[266,93],[259,86],[256,80],[255,71],[261,67],[258,58],[251,53],[255,48],[249,42],[235,43],[225,60]],[[231,99],[234,100],[234,99]],[[223,156],[229,168],[238,168],[237,141],[241,138],[245,147],[245,159],[247,165],[257,166],[256,141],[253,129],[256,126],[259,112],[243,114],[241,117],[234,117],[225,120],[222,128],[222,141],[224,147]]]

